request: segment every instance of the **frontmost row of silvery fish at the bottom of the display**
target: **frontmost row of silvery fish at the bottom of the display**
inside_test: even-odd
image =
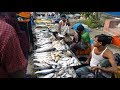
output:
[[[76,78],[77,77],[73,68],[61,68],[59,70],[46,69],[46,70],[36,71],[35,75],[38,78]]]

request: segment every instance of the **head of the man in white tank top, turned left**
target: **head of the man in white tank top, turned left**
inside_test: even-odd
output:
[[[112,37],[105,34],[96,35],[94,38],[95,47],[106,46],[107,44],[111,44],[111,42]]]

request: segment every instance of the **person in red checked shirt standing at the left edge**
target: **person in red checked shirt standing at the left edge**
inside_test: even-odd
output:
[[[25,78],[27,60],[15,29],[0,15],[0,78]]]

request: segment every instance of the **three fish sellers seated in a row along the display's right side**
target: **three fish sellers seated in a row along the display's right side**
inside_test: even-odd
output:
[[[69,19],[65,15],[61,16],[58,33],[68,35],[67,27],[70,26]],[[87,55],[84,65],[76,69],[80,78],[112,78],[118,72],[117,63],[113,52],[107,48],[112,43],[112,37],[105,34],[96,35],[94,39],[90,38],[90,30],[87,30],[82,24],[74,29],[73,41],[70,44],[72,52],[78,55]],[[82,54],[79,54],[83,52]]]

